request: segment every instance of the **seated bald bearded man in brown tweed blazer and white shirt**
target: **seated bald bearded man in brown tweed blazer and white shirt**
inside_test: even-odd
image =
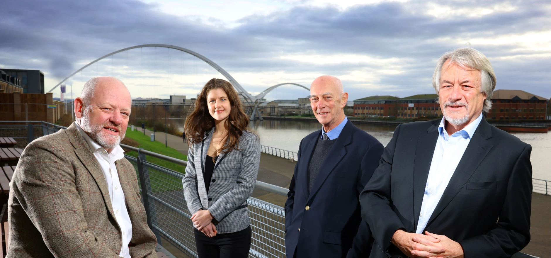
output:
[[[132,99],[113,77],[90,79],[76,122],[25,148],[8,200],[7,257],[157,257],[133,165],[119,146]]]

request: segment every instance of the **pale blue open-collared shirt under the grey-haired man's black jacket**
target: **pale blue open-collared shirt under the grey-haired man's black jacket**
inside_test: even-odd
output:
[[[419,213],[419,222],[417,223],[418,234],[423,234],[426,224],[429,222],[430,216],[432,216],[436,205],[440,201],[442,194],[451,176],[457,168],[457,164],[463,157],[463,153],[474,131],[482,120],[482,114],[478,116],[476,120],[469,123],[463,130],[453,133],[449,136],[446,132],[445,120],[442,117],[438,132],[440,136],[436,141],[436,147],[434,148],[433,160],[430,163],[429,176],[426,179],[425,194],[423,196],[423,204],[421,205],[421,212]]]

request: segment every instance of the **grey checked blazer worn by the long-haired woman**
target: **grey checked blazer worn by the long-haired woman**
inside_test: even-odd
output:
[[[260,166],[260,139],[255,133],[243,131],[239,150],[219,155],[207,194],[203,170],[213,132],[214,127],[201,143],[190,147],[182,179],[183,192],[191,214],[208,209],[219,234],[233,233],[250,224],[247,198],[255,188]]]

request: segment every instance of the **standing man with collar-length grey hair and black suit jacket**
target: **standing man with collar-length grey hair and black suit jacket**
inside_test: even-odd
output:
[[[370,258],[511,257],[528,244],[532,148],[486,121],[495,85],[479,51],[440,57],[444,117],[396,127],[360,193]]]

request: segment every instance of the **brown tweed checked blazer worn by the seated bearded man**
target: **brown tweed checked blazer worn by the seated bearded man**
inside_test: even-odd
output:
[[[115,162],[132,222],[131,257],[152,257],[156,238],[140,202],[136,171]],[[98,160],[74,123],[21,154],[10,182],[7,257],[118,257],[122,235]]]

